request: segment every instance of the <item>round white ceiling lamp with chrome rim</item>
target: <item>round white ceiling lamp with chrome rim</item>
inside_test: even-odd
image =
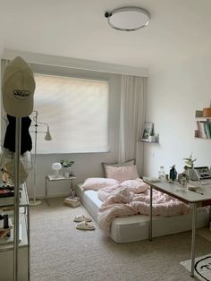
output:
[[[150,14],[139,7],[123,7],[106,12],[105,18],[115,30],[134,31],[148,25]]]

